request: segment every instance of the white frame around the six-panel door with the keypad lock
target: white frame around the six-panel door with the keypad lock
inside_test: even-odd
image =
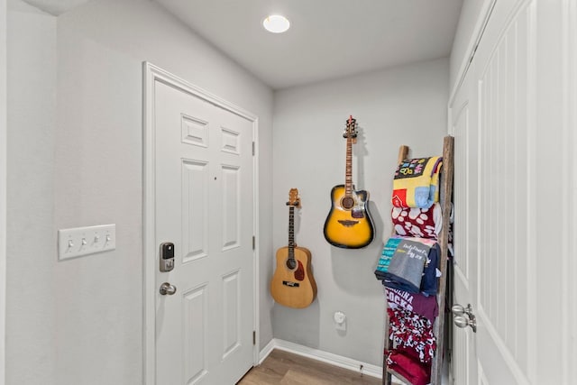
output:
[[[5,1],[5,0],[0,0]],[[253,207],[252,213],[253,229],[252,234],[258,239],[259,229],[259,168],[258,168],[258,125],[259,118],[243,108],[234,105],[219,96],[209,93],[203,88],[197,87],[188,81],[179,78],[164,69],[151,64],[148,61],[142,62],[142,352],[143,352],[143,373],[145,384],[155,384],[156,379],[156,263],[157,245],[155,244],[154,225],[156,222],[154,213],[155,188],[154,188],[154,82],[160,81],[170,87],[179,88],[190,95],[197,96],[206,102],[217,105],[224,110],[242,116],[252,122],[252,173],[253,173]],[[254,243],[252,270],[254,280],[252,284],[252,300],[254,301],[254,314],[252,315],[252,327],[255,332],[255,343],[252,345],[252,362],[259,362],[259,243]]]

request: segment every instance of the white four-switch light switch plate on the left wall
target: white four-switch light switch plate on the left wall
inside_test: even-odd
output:
[[[116,225],[97,225],[60,229],[58,259],[66,260],[116,248]]]

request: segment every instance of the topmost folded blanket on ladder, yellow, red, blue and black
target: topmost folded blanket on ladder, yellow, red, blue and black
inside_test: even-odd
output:
[[[428,208],[438,202],[442,163],[439,156],[401,162],[393,179],[393,206]]]

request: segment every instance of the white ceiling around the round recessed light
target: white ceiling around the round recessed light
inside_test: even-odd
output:
[[[27,0],[51,14],[87,0]],[[122,0],[118,0],[122,1]],[[463,0],[153,0],[274,89],[449,56]],[[288,32],[262,28],[268,14]]]

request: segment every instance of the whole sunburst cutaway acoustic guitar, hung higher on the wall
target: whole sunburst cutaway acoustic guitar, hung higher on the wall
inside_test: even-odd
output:
[[[353,143],[357,138],[357,124],[349,116],[343,133],[346,138],[346,168],[344,185],[331,190],[331,211],[325,221],[328,243],[343,249],[360,249],[374,238],[374,226],[369,213],[369,193],[356,191],[353,185]]]

